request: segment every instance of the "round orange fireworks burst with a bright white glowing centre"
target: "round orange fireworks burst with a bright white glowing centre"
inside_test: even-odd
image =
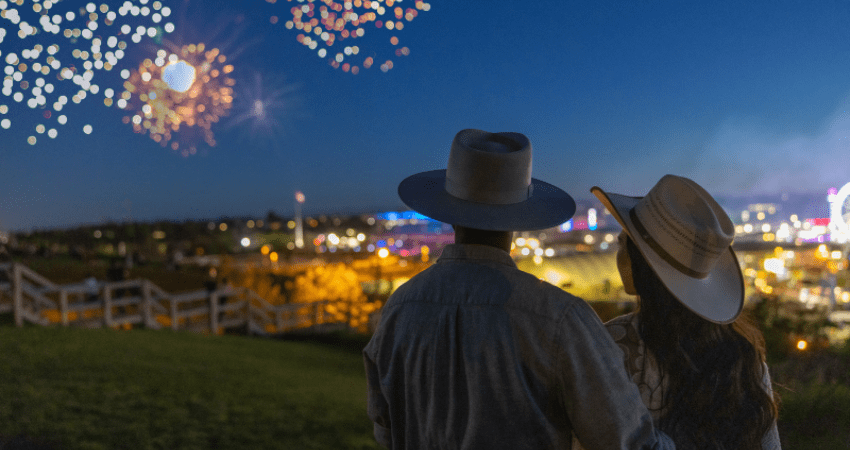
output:
[[[124,123],[132,123],[136,133],[149,133],[163,147],[170,142],[183,156],[197,152],[195,132],[215,146],[212,125],[233,104],[233,65],[226,62],[218,48],[207,50],[201,43],[160,49],[153,61],[122,71],[126,81],[118,107],[136,111],[124,116]],[[181,139],[174,139],[178,132]]]

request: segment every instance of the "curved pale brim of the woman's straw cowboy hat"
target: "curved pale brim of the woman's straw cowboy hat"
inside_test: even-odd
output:
[[[643,197],[606,193],[595,186],[590,191],[617,219],[664,286],[685,307],[708,321],[720,324],[734,322],[741,315],[744,277],[731,246],[705,278],[685,275],[652,250],[632,223],[629,211]]]

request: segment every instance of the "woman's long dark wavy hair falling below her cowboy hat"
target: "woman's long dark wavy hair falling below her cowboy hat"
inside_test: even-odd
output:
[[[667,290],[631,239],[626,248],[640,297],[638,331],[669,380],[656,426],[678,448],[761,449],[777,417],[762,382],[761,332],[744,317],[720,325],[697,316]]]

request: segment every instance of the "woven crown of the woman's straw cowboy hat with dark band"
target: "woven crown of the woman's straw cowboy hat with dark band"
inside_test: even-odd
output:
[[[735,237],[732,221],[714,198],[675,175],[664,176],[635,205],[632,218],[658,253],[696,278],[711,272]]]

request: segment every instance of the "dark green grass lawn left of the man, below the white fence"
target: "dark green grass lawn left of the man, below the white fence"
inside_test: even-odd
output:
[[[51,449],[378,448],[349,347],[2,327],[0,447],[21,437]]]

